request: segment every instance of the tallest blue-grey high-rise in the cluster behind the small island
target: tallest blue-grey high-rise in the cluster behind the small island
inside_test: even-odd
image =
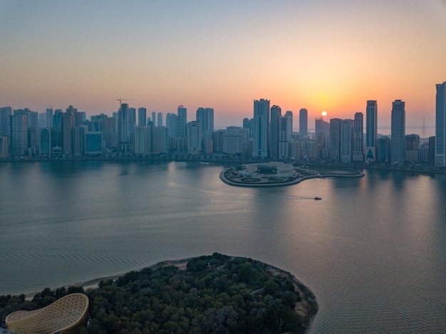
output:
[[[254,100],[253,157],[268,157],[269,100]]]

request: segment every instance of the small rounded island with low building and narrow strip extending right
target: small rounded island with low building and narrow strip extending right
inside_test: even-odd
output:
[[[363,177],[364,173],[353,169],[330,167],[296,167],[283,162],[261,162],[224,169],[220,179],[238,187],[277,187],[297,184],[315,177]],[[319,199],[319,198],[317,198]]]

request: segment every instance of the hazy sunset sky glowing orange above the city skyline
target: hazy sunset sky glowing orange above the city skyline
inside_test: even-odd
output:
[[[406,126],[435,125],[446,81],[446,0],[0,0],[0,107],[88,116],[130,107],[214,108],[216,127],[265,98],[308,127],[393,100]]]

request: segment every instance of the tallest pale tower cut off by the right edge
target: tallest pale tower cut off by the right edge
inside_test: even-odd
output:
[[[446,81],[436,85],[435,166],[446,166]]]

